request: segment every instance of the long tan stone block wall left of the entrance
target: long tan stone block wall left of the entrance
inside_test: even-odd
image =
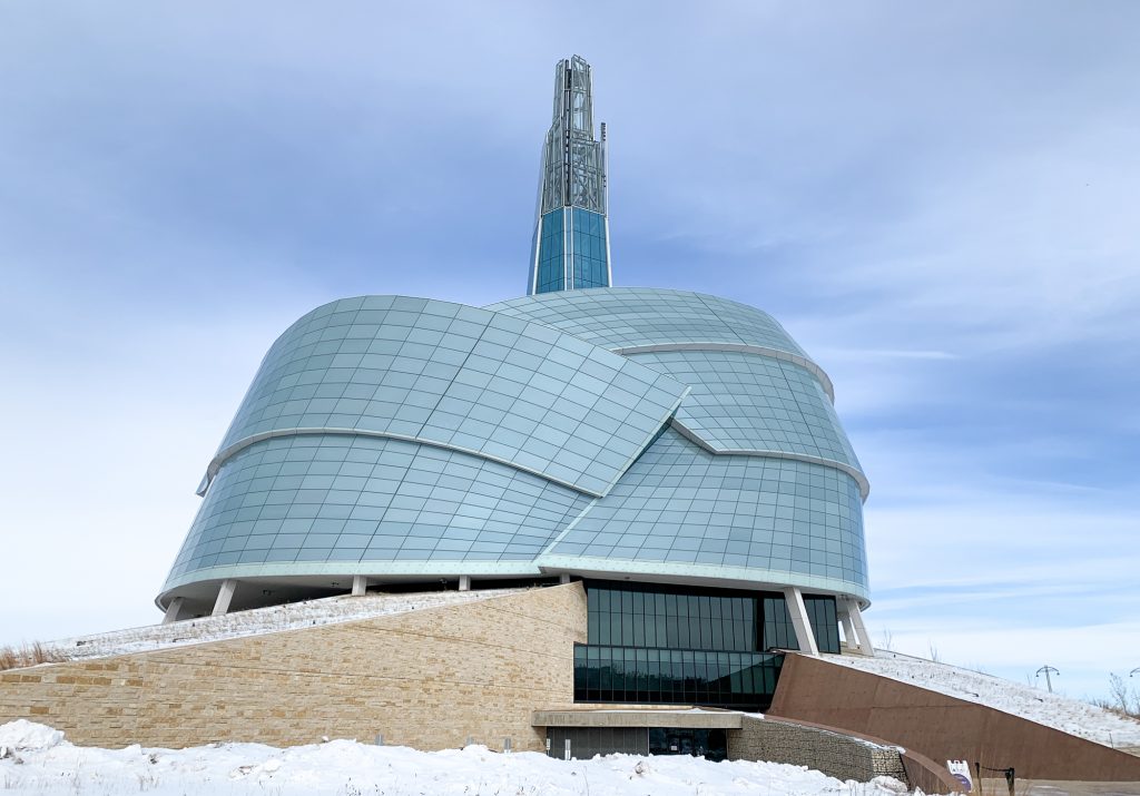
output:
[[[0,672],[0,723],[75,744],[275,746],[321,737],[440,749],[467,737],[545,749],[536,705],[573,701],[580,584],[456,606]]]

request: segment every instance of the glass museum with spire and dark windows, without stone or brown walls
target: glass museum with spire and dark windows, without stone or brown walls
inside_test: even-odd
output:
[[[527,295],[365,295],[272,344],[198,488],[168,622],[583,582],[576,702],[766,709],[782,650],[866,645],[869,484],[767,314],[614,287],[605,125],[557,64]]]

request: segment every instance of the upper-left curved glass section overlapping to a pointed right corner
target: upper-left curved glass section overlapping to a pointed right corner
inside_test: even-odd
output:
[[[282,433],[441,445],[604,494],[685,385],[570,334],[446,301],[319,307],[270,348],[211,463]]]

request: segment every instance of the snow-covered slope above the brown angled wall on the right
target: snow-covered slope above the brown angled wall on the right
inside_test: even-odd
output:
[[[874,658],[845,655],[823,660],[986,705],[1105,746],[1140,747],[1140,722],[1010,680],[886,650],[876,650]]]

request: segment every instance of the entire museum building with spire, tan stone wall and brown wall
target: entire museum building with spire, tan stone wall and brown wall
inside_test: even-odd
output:
[[[758,309],[613,286],[592,95],[561,60],[526,295],[296,320],[206,464],[163,624],[0,671],[0,723],[694,754],[925,793],[963,790],[963,755],[1140,779],[1112,744],[928,687],[933,661],[862,657],[869,485],[831,381]]]

